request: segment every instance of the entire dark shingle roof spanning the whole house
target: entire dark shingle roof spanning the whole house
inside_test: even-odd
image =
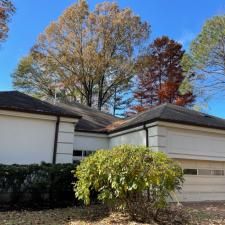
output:
[[[8,91],[0,92],[0,109],[78,118],[75,130],[83,132],[115,133],[154,121],[225,130],[225,120],[222,118],[168,103],[127,119],[120,119],[79,103],[53,105],[18,91]]]

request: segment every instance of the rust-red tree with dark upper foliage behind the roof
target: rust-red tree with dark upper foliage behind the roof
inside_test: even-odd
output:
[[[132,109],[140,112],[166,102],[186,106],[194,101],[190,86],[185,88],[188,80],[182,68],[183,56],[182,46],[166,36],[148,46],[136,65],[137,104]]]

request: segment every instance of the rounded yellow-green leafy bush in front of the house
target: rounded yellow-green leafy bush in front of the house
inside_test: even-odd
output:
[[[139,220],[146,213],[157,218],[183,183],[182,169],[164,153],[132,145],[97,151],[81,162],[75,177],[75,195],[85,204],[90,204],[94,190],[99,200],[126,209]]]

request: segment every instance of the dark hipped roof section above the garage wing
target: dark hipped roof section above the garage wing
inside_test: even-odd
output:
[[[125,119],[122,125],[116,127],[111,132],[118,132],[154,121],[166,121],[225,130],[225,120],[222,118],[166,103]]]

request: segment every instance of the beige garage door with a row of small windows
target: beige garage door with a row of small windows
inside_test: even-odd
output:
[[[216,161],[179,160],[184,171],[180,201],[225,200],[225,163]]]

